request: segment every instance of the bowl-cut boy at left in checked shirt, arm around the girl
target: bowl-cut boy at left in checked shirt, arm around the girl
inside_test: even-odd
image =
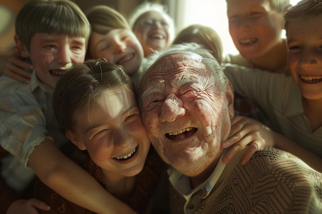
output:
[[[67,139],[59,132],[51,107],[52,92],[60,77],[68,68],[84,61],[90,23],[71,1],[32,0],[17,15],[15,29],[16,45],[22,56],[31,60],[33,71],[28,84],[0,77],[0,143],[10,153],[2,160],[7,161],[2,163],[2,176],[7,181],[18,179],[11,184],[14,188],[25,173],[19,173],[16,167],[8,168],[11,165],[7,163],[30,167],[64,197],[97,213],[108,213],[106,202],[115,203],[116,199],[59,151],[58,147]],[[11,171],[17,173],[15,178]],[[31,174],[22,189],[32,178]],[[38,204],[20,200],[9,209],[15,213],[34,207],[49,209]],[[120,209],[129,211],[123,206]]]

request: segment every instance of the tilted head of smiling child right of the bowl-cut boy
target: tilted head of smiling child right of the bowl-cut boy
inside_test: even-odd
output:
[[[92,26],[87,58],[105,58],[111,63],[122,65],[129,75],[134,75],[144,55],[126,18],[105,5],[94,6],[86,15]]]

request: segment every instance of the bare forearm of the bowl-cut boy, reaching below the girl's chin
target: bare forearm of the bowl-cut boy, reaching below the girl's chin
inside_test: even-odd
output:
[[[135,213],[68,159],[49,138],[34,148],[28,164],[44,184],[75,204],[99,214]]]

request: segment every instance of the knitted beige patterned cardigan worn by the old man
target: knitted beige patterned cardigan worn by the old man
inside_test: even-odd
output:
[[[244,152],[226,164],[209,196],[194,213],[322,213],[322,173],[272,147],[257,151],[242,166],[239,161]],[[183,197],[173,188],[170,196],[171,213],[184,213]]]

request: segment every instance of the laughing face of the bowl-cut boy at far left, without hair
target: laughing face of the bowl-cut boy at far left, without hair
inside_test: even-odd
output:
[[[25,50],[38,78],[55,88],[68,68],[84,62],[86,39],[48,33],[36,33],[30,41],[30,50]]]

